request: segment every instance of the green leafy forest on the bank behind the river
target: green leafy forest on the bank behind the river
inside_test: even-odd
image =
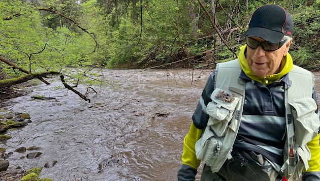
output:
[[[212,68],[237,56],[251,14],[265,4],[293,15],[294,63],[318,70],[320,0],[5,0],[0,81],[63,74],[91,84],[93,68]]]

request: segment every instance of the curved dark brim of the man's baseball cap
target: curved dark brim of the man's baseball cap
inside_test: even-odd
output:
[[[259,37],[270,43],[278,43],[282,40],[283,34],[264,27],[251,27],[243,35],[244,37]]]

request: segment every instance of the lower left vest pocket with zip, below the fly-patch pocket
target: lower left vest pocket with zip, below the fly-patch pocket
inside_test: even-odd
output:
[[[216,135],[210,126],[207,126],[202,137],[196,142],[197,159],[203,160],[208,166],[212,166],[212,162],[220,154],[222,146],[221,138]]]

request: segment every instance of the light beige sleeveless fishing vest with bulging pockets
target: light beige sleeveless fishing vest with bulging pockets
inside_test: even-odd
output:
[[[207,127],[196,142],[197,159],[210,166],[212,172],[218,172],[227,159],[233,159],[231,152],[240,127],[246,83],[239,78],[242,70],[238,59],[217,64],[215,71],[215,89],[206,108]],[[317,135],[320,121],[312,99],[313,74],[294,66],[289,78],[292,85],[285,84],[284,88],[284,164],[278,172],[291,180],[298,179],[303,168],[309,168],[311,154],[306,144]]]

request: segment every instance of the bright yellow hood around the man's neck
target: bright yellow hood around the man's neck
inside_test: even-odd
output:
[[[280,80],[282,76],[289,73],[293,68],[293,61],[292,57],[289,53],[286,53],[286,56],[282,58],[282,62],[280,64],[280,72],[277,74],[269,75],[268,77],[258,77],[257,75],[253,74],[251,69],[248,66],[248,62],[245,55],[245,50],[247,45],[243,45],[240,47],[240,54],[239,54],[239,63],[243,72],[252,80],[258,81],[264,85],[268,85],[272,82]]]

